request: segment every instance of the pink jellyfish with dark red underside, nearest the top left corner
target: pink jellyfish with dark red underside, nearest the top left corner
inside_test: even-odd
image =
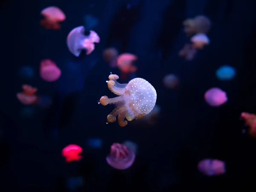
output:
[[[45,29],[58,30],[61,29],[59,22],[66,20],[66,15],[60,8],[50,6],[41,11],[41,15],[44,19],[40,21],[40,25],[44,26]]]

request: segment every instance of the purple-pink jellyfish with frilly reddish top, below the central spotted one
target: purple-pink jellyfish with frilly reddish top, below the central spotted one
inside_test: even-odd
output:
[[[107,163],[115,169],[128,169],[135,160],[135,153],[129,150],[125,145],[113,143],[110,148],[110,154],[106,157]]]

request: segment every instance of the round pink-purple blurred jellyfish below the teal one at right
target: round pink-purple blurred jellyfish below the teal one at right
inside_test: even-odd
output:
[[[212,107],[218,107],[227,102],[227,94],[220,88],[213,87],[204,94],[205,101]]]

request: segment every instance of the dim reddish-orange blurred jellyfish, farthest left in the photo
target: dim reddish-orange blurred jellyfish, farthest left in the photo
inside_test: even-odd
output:
[[[35,104],[38,100],[38,96],[35,95],[38,89],[27,84],[22,85],[22,89],[23,93],[17,93],[17,99],[23,105]]]

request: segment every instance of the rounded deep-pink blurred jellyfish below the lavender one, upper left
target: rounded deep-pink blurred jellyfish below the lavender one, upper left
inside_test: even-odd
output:
[[[40,64],[40,76],[44,81],[57,81],[61,76],[61,70],[50,59],[44,59]]]

